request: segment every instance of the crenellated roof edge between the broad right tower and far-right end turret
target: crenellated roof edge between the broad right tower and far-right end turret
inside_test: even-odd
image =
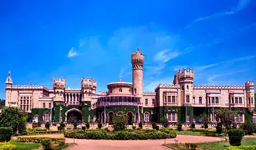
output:
[[[193,89],[245,89],[244,85],[193,85]]]

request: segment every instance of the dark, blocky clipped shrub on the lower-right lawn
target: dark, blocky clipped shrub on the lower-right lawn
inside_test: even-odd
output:
[[[240,146],[244,132],[240,129],[230,129],[228,130],[229,143],[232,146]]]

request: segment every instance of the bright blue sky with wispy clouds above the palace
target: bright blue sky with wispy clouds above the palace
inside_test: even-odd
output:
[[[54,76],[132,82],[131,53],[145,54],[144,91],[194,68],[194,85],[255,80],[256,1],[1,1],[0,98],[15,85],[52,88]]]

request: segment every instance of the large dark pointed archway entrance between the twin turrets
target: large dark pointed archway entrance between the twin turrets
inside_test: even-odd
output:
[[[78,110],[76,108],[72,108],[68,110],[66,113],[65,121],[68,123],[74,123],[74,122],[83,122],[83,115],[82,111]]]

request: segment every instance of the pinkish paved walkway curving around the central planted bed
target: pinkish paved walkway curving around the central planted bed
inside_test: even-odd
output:
[[[47,134],[37,135],[40,137],[64,138],[63,134]],[[205,143],[221,141],[221,138],[213,138],[207,136],[186,136],[177,135],[177,138],[167,139],[166,143],[175,143],[174,139],[179,140],[179,143]],[[66,143],[74,143],[74,139],[66,138]],[[169,149],[162,144],[165,140],[83,140],[75,139],[77,145],[68,147],[68,149]]]

